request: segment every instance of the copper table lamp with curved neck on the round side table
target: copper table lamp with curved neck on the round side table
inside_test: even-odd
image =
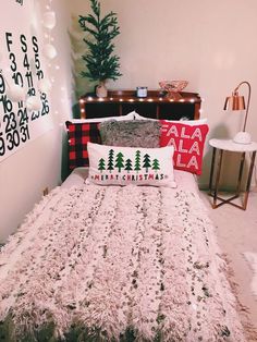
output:
[[[246,107],[245,107],[244,96],[241,96],[238,94],[238,88],[243,84],[246,84],[248,87],[248,98],[247,98]],[[246,109],[243,131],[236,133],[236,135],[233,138],[233,142],[237,144],[250,144],[252,142],[249,133],[245,132],[246,122],[248,118],[248,111],[249,111],[249,100],[250,100],[250,84],[247,81],[241,82],[237,85],[237,87],[233,90],[232,96],[229,96],[225,99],[224,110],[245,110]]]

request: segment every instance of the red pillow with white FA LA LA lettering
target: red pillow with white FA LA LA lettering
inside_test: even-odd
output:
[[[174,169],[200,174],[208,125],[189,125],[166,120],[160,120],[160,147],[174,146]]]

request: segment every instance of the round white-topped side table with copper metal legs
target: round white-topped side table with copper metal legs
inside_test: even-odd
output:
[[[215,209],[215,208],[218,208],[224,204],[230,204],[236,208],[245,210],[246,206],[247,206],[250,181],[252,181],[252,175],[253,175],[253,170],[254,170],[254,164],[255,164],[257,143],[237,144],[231,139],[210,139],[209,145],[213,147],[211,168],[210,168],[210,181],[209,181],[209,195],[211,197],[213,197],[212,208]],[[217,152],[217,150],[218,150],[218,152]],[[221,174],[221,167],[222,167],[223,152],[224,151],[240,152],[241,154],[236,192],[232,197],[229,197],[229,198],[222,198],[219,196],[219,182],[220,182],[220,174]],[[246,152],[252,155],[250,156],[250,164],[249,164],[249,169],[248,169],[246,186],[244,190],[243,203],[242,203],[242,205],[237,205],[237,204],[233,203],[233,199],[240,197],[241,183],[242,183],[242,178],[243,178]],[[216,163],[217,163],[217,167],[216,167]],[[217,169],[216,172],[215,172],[215,169]],[[218,200],[220,201],[219,204],[218,204]]]

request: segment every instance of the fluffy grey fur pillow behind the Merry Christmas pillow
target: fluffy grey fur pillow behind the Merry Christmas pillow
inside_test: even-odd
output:
[[[106,121],[100,123],[99,127],[103,145],[159,147],[161,124],[158,121]]]

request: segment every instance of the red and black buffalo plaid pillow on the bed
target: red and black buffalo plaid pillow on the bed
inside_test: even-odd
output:
[[[98,129],[99,122],[72,123],[65,122],[69,139],[69,167],[71,170],[77,167],[88,167],[87,143],[101,143]]]

